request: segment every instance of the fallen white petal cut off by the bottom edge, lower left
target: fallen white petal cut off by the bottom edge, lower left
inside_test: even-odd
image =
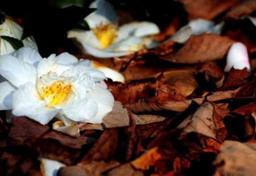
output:
[[[41,161],[41,172],[44,176],[57,176],[57,172],[60,168],[66,165],[55,160],[49,160],[47,158],[39,158]]]

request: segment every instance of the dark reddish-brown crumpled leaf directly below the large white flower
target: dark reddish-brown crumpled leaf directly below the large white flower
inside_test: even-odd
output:
[[[8,143],[2,147],[26,145],[43,157],[65,164],[71,164],[80,155],[82,145],[94,142],[94,139],[89,137],[71,138],[25,117],[13,118],[13,123],[14,126],[11,127],[7,139]]]

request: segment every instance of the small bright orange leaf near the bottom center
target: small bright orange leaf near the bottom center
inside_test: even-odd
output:
[[[146,153],[143,153],[142,156],[137,158],[134,161],[131,161],[131,165],[136,169],[145,170],[150,166],[154,166],[155,162],[162,159],[163,156],[158,152],[158,147],[151,148]]]

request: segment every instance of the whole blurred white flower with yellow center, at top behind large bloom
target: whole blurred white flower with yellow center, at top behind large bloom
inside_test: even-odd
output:
[[[108,1],[96,0],[89,7],[97,8],[85,18],[91,30],[68,32],[68,38],[75,38],[83,52],[100,58],[119,57],[154,45],[147,36],[160,32],[156,24],[133,22],[118,27],[117,14]]]

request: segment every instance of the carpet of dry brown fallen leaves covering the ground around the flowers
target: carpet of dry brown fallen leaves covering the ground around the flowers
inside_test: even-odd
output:
[[[175,2],[168,19],[147,16],[161,27],[156,40],[174,36],[196,18],[225,22],[221,34],[192,35],[184,44],[167,41],[155,49],[108,59],[79,54],[71,43],[61,43],[59,53],[101,62],[120,71],[126,83],[106,80],[114,108],[102,124],[80,124],[78,138],[26,117],[7,123],[2,111],[1,175],[42,175],[40,157],[67,165],[57,173],[65,176],[254,175],[256,27],[241,17],[255,16],[256,2],[179,2],[186,8],[171,11]],[[115,3],[123,23],[127,15],[146,18],[137,11],[144,2],[134,14],[128,10],[135,2]],[[247,47],[251,71],[224,72],[228,50],[238,41]]]

